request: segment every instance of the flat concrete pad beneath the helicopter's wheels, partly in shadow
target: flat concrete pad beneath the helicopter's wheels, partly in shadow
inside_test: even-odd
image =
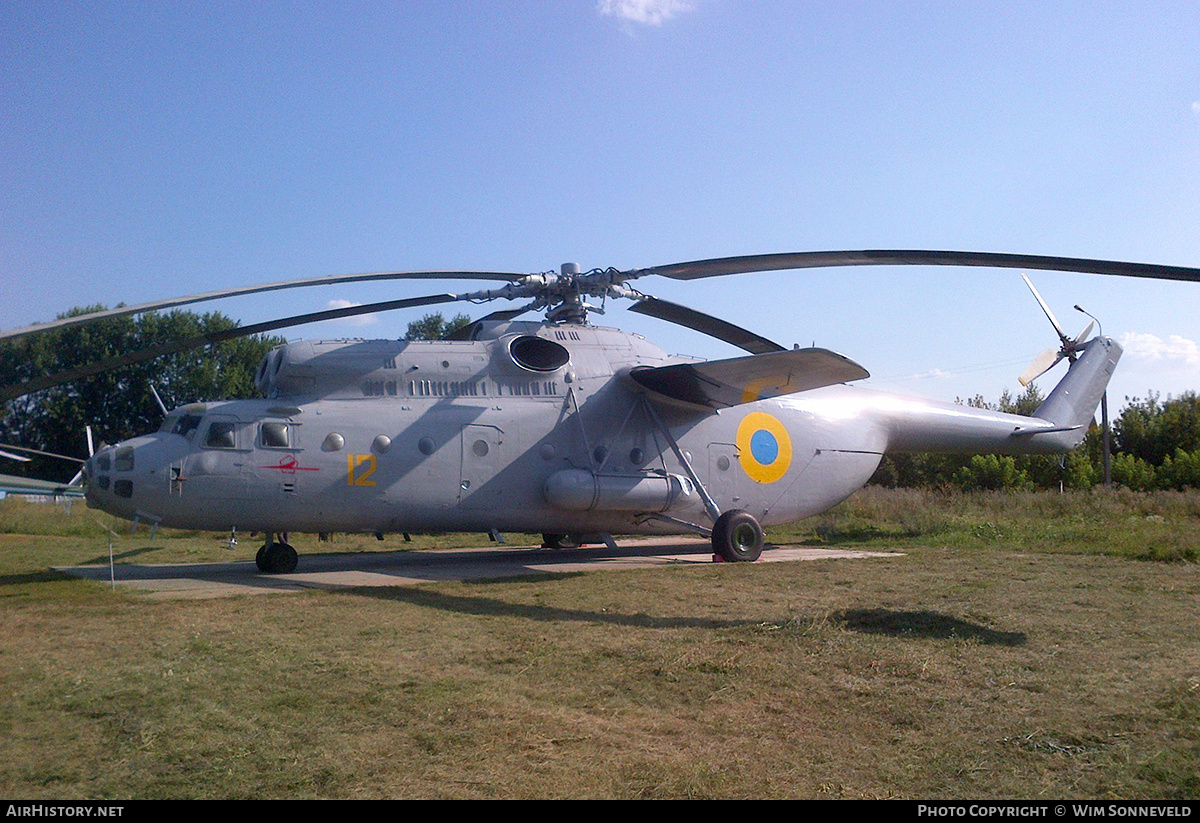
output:
[[[760,563],[901,557],[899,552],[858,552],[808,546],[768,546]],[[239,594],[283,594],[304,589],[415,585],[433,581],[472,581],[523,575],[566,575],[605,569],[646,569],[714,563],[707,540],[654,537],[606,547],[545,549],[452,548],[424,552],[301,554],[290,575],[264,575],[253,560],[240,563],[119,564],[62,566],[58,571],[126,587],[151,597],[181,600]]]

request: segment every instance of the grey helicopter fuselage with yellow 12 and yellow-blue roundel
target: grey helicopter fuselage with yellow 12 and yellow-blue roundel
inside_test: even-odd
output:
[[[710,524],[708,501],[763,525],[817,513],[889,447],[1074,445],[1045,421],[1042,439],[1014,438],[1030,419],[848,385],[714,413],[628,377],[674,362],[590,325],[290,344],[263,364],[265,400],[182,407],[98,451],[88,500],[211,530],[661,534]]]

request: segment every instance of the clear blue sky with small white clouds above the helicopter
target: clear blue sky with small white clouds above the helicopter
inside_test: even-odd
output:
[[[859,248],[1200,266],[1200,5],[0,4],[0,328],[346,272]],[[1116,408],[1200,389],[1200,283],[1032,277],[1072,332],[1079,304],[1126,346]],[[1018,391],[1055,343],[1010,270],[637,287],[948,400]],[[396,337],[421,313],[289,336]],[[593,320],[740,354],[611,305]]]

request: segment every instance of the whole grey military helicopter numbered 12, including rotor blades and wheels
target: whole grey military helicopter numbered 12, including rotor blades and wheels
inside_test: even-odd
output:
[[[518,300],[436,342],[304,341],[258,371],[263,400],[184,406],[154,433],[107,445],[79,483],[91,506],[136,522],[262,533],[264,572],[296,567],[290,531],[540,533],[545,545],[612,543],[614,534],[701,534],[725,560],[760,557],[763,528],[821,512],[860,488],[887,452],[1056,453],[1082,440],[1121,348],[1068,336],[1022,376],[1069,368],[1032,416],[852,386],[868,377],[821,348],[787,349],[629,286],[743,272],[859,265],[1020,268],[1198,281],[1200,269],[947,251],[798,252],[652,269],[563,265],[557,272],[344,275],[228,289],[71,317],[16,338],[97,319],[259,292],[380,280],[503,286],[301,314],[127,353],[0,389],[0,400],[88,374],[353,314],[455,301]],[[1032,284],[1031,284],[1032,288]],[[1034,290],[1034,294],[1036,290]],[[748,352],[701,361],[593,325],[588,299]],[[524,322],[526,312],[545,319]]]

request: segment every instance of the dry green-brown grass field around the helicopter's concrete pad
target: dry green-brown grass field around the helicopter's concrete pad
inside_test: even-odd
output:
[[[768,536],[904,555],[160,601],[50,567],[253,542],[6,500],[0,797],[1200,797],[1200,494]]]

